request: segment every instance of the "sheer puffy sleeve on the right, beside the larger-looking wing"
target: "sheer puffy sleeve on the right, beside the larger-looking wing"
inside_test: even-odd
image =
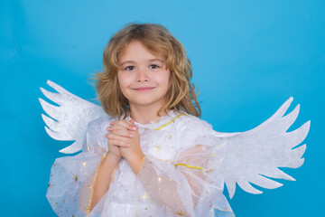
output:
[[[233,216],[218,175],[223,140],[205,133],[189,143],[173,162],[144,157],[136,200],[150,198],[147,206],[158,205],[164,216],[208,216],[209,212],[214,216],[213,208],[219,210],[218,216]],[[146,209],[137,207],[137,214],[144,216]]]

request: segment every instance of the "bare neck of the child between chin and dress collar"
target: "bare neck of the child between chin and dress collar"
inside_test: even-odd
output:
[[[149,124],[151,121],[158,123],[162,116],[167,115],[170,109],[162,111],[161,116],[157,115],[159,108],[148,108],[148,107],[132,107],[130,105],[131,115],[130,117],[134,119],[139,124]]]

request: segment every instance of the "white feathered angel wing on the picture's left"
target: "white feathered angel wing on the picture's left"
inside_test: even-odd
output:
[[[56,140],[75,141],[72,145],[61,149],[61,153],[78,152],[82,148],[88,123],[107,114],[98,105],[73,95],[51,80],[47,80],[47,84],[58,93],[41,88],[42,93],[60,107],[53,106],[39,98],[42,109],[51,117],[42,114],[42,119],[48,126],[45,130]]]

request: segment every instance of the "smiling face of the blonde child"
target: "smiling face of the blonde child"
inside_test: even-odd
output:
[[[149,52],[141,42],[130,42],[118,60],[117,79],[130,108],[163,106],[170,79],[163,56]]]

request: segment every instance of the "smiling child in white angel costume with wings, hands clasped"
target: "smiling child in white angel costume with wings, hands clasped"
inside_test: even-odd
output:
[[[305,146],[286,147],[302,142],[309,122],[290,137],[294,144],[283,144],[298,114],[294,109],[281,122],[292,99],[248,133],[221,134],[200,120],[190,61],[181,42],[162,25],[126,25],[108,42],[103,63],[97,92],[105,114],[54,83],[49,84],[59,95],[42,90],[59,101],[62,109],[56,119],[67,121],[56,130],[43,116],[46,124],[57,132],[64,129],[61,134],[83,135],[71,136],[78,142],[84,137],[79,155],[60,157],[51,168],[47,198],[59,216],[215,216],[214,209],[218,216],[234,216],[222,194],[224,183],[231,197],[236,183],[260,193],[248,182],[265,188],[280,184],[259,174],[292,180],[277,167],[302,165]],[[53,108],[41,103],[55,118]],[[66,113],[75,116],[69,121],[69,115],[63,115],[67,104]],[[87,129],[79,130],[83,126]],[[279,128],[283,134],[274,130]],[[273,140],[269,149],[258,146],[259,139],[267,145],[269,137],[276,144]],[[66,153],[78,151],[75,146]]]

